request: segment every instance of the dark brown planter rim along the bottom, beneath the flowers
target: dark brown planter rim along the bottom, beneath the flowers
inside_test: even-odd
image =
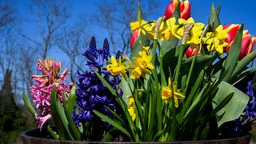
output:
[[[50,138],[44,138],[45,136],[39,134],[39,131],[26,130],[21,133],[22,142],[24,144],[86,144],[86,143],[106,143],[106,144],[134,144],[138,142],[82,142],[82,141],[58,141]],[[241,138],[229,138],[218,140],[206,140],[206,141],[180,141],[180,142],[139,142],[142,144],[156,144],[156,143],[170,143],[170,144],[246,144],[250,142],[250,135],[246,135]]]

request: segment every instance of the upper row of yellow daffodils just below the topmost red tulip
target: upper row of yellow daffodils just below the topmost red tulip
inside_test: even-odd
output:
[[[186,29],[186,25],[191,25],[190,29]],[[154,21],[146,22],[141,20],[138,22],[131,22],[130,27],[132,31],[138,31],[138,35],[144,36],[147,35],[149,40],[154,39],[154,30],[155,23]],[[194,22],[193,18],[182,19],[178,18],[169,18],[164,19],[158,29],[158,37],[161,40],[166,39],[170,41],[172,38],[178,38],[183,43],[190,45],[190,48],[195,49],[197,46],[203,42],[206,44],[206,48],[213,52],[217,51],[219,54],[222,54],[228,42],[228,32],[231,28],[223,29],[223,26],[220,25],[216,29],[206,31],[206,34],[202,35],[205,25],[201,22]]]

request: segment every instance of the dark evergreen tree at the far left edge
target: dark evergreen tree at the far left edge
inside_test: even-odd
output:
[[[6,70],[2,90],[0,90],[0,143],[15,142],[22,130],[34,126],[28,121],[26,113],[21,106],[14,102],[11,86],[11,70]]]

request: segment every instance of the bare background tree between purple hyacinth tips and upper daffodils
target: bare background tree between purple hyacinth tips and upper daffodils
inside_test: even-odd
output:
[[[154,0],[142,0],[142,16],[148,18],[158,9]],[[97,4],[96,13],[92,19],[109,34],[112,52],[117,50],[128,54],[130,46],[130,22],[137,21],[138,0],[116,0]]]

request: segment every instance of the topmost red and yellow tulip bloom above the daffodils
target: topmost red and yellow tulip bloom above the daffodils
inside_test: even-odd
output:
[[[169,19],[173,16],[174,10],[177,5],[178,0],[173,0],[169,3],[165,11],[166,19]],[[182,19],[190,18],[190,2],[188,0],[185,0],[184,2],[180,1],[180,13]]]

